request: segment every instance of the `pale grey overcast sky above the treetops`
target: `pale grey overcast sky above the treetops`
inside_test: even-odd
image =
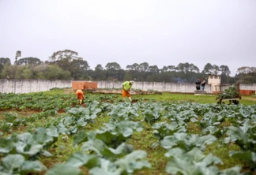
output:
[[[256,66],[255,0],[0,0],[0,58],[74,50],[97,64]]]

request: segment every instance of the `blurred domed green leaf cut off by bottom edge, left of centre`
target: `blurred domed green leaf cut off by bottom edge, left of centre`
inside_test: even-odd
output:
[[[81,175],[81,170],[77,167],[67,166],[66,164],[55,164],[45,175]]]

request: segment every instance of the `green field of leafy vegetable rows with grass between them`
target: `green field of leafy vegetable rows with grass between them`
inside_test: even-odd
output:
[[[256,174],[256,97],[0,94],[0,174]]]

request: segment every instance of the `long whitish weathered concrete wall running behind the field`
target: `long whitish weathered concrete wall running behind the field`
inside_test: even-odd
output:
[[[16,84],[16,88],[15,88]],[[111,82],[111,81],[97,81],[98,88],[109,88],[109,89],[121,89],[122,82]],[[14,80],[0,79],[0,93],[29,93],[36,91],[49,91],[51,88],[58,87],[72,87],[71,80]],[[175,83],[164,83],[164,82],[134,82],[132,90],[142,91],[170,91],[170,92],[181,92],[181,93],[194,93],[196,90],[195,84],[175,84]],[[256,90],[256,84],[240,84],[240,90]],[[209,84],[205,85],[205,91],[212,93],[214,90],[211,89]]]

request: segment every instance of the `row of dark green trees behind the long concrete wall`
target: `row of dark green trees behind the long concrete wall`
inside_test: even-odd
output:
[[[90,69],[88,62],[73,50],[59,50],[48,61],[39,58],[21,58],[11,64],[9,58],[0,58],[1,79],[42,79],[42,80],[137,80],[171,83],[194,83],[198,78],[207,78],[209,74],[221,75],[222,84],[256,83],[256,67],[240,67],[234,77],[228,65],[207,63],[200,72],[193,63],[179,65],[149,65],[147,62],[127,65],[121,69],[117,62],[96,65]]]

